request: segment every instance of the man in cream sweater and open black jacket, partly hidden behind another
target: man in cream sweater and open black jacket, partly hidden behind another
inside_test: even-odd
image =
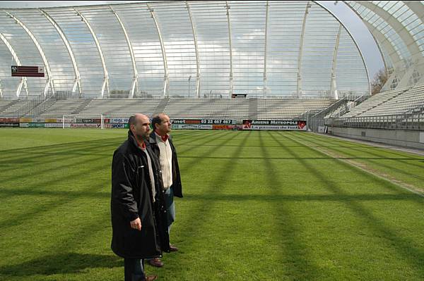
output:
[[[160,161],[160,170],[162,170],[163,191],[165,197],[165,206],[167,209],[167,230],[170,233],[171,225],[175,220],[174,196],[182,197],[181,176],[179,175],[179,166],[177,151],[172,143],[170,118],[160,113],[153,116],[152,132],[149,137],[149,144],[154,154]],[[170,244],[170,251],[178,251],[176,246]],[[163,266],[160,258],[153,258],[148,261],[152,266]]]

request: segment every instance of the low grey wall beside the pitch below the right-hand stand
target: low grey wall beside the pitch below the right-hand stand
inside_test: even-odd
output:
[[[424,131],[378,130],[353,127],[329,127],[328,133],[338,137],[381,142],[413,149],[424,149]]]

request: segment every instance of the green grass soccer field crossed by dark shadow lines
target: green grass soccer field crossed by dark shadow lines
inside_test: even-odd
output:
[[[306,132],[173,131],[159,280],[424,280],[424,156]],[[0,130],[0,280],[123,280],[110,170],[126,130]]]

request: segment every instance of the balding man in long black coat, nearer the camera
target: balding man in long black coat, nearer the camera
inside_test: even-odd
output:
[[[146,277],[144,259],[170,251],[160,163],[145,143],[149,132],[146,115],[131,116],[128,139],[112,161],[112,251],[124,258],[125,281],[155,280]]]

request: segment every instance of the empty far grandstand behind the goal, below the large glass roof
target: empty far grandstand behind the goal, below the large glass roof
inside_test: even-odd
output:
[[[128,117],[143,112],[149,116],[166,112],[172,118],[217,119],[296,119],[304,113],[317,113],[334,103],[332,99],[66,99],[51,100],[52,104],[40,111],[30,111],[28,101],[6,101],[0,117],[61,118],[64,115],[78,118]],[[45,104],[43,104],[45,106]],[[37,111],[38,110],[38,111]],[[21,114],[19,115],[18,112]]]

